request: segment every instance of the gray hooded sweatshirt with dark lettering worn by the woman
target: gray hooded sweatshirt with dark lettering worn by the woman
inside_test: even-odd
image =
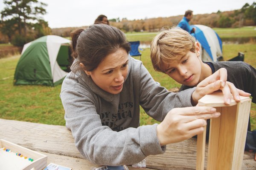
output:
[[[168,92],[148,70],[129,56],[123,89],[113,95],[97,86],[84,71],[70,72],[61,87],[66,127],[88,160],[101,165],[134,164],[165,152],[157,124],[140,126],[140,106],[157,121],[175,107],[189,107],[195,89]]]

